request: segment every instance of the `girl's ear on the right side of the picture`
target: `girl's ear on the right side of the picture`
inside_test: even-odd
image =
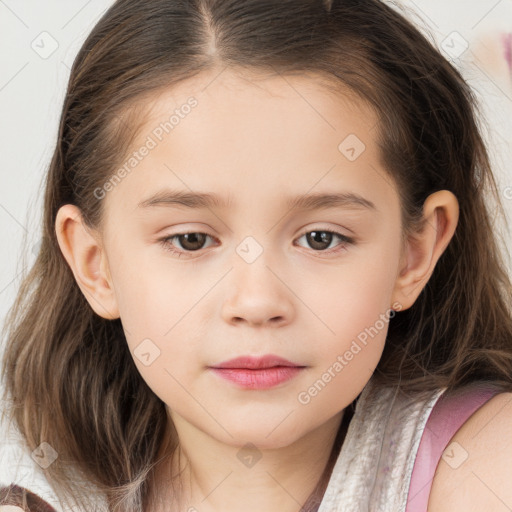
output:
[[[421,231],[411,235],[402,253],[392,297],[393,304],[401,305],[400,311],[414,304],[455,233],[459,220],[455,195],[449,190],[430,194],[423,204],[423,219]]]

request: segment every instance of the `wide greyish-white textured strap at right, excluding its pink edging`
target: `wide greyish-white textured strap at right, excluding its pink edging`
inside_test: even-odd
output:
[[[366,384],[318,512],[405,512],[414,460],[445,389],[407,396]]]

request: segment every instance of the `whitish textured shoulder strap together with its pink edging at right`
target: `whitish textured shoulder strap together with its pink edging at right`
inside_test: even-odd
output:
[[[478,381],[418,396],[374,382],[357,400],[318,512],[426,512],[449,440],[500,391]]]

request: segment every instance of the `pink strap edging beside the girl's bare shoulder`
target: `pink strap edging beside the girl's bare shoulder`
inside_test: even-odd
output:
[[[450,439],[479,407],[500,390],[467,386],[443,393],[423,430],[407,496],[405,512],[426,512],[437,464]]]

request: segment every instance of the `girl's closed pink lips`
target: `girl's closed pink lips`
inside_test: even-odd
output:
[[[209,368],[244,389],[269,389],[292,379],[305,366],[269,354],[237,357]]]

